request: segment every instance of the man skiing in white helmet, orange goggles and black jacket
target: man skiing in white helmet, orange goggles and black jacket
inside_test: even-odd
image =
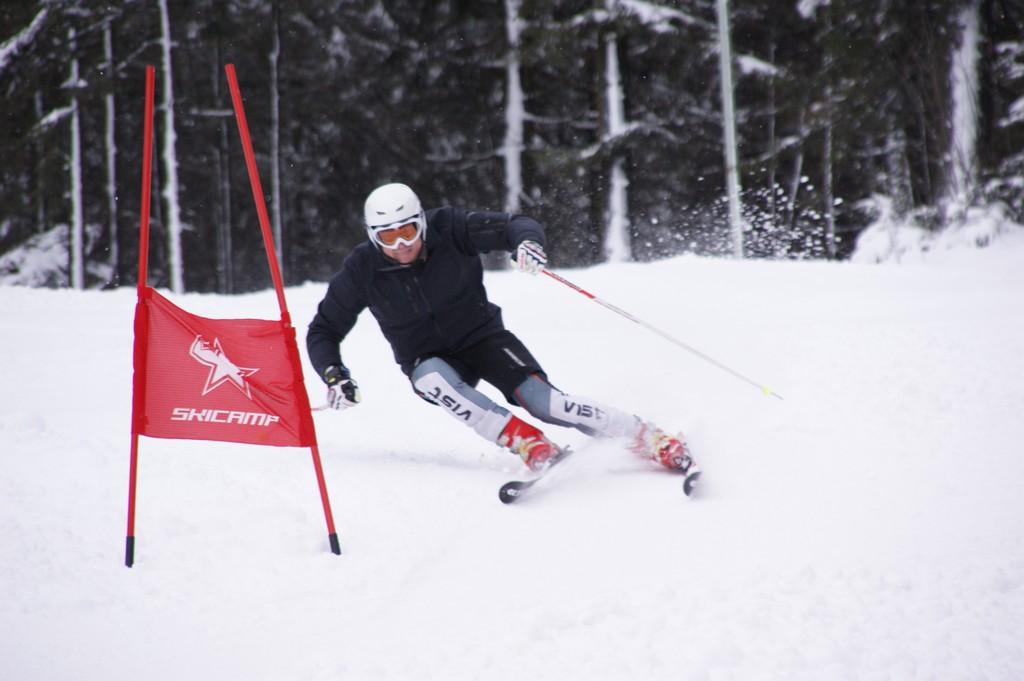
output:
[[[511,405],[550,424],[588,435],[627,437],[630,449],[663,466],[689,471],[683,441],[623,411],[555,388],[529,350],[487,300],[479,254],[511,252],[512,264],[537,273],[547,264],[544,228],[532,218],[444,207],[424,211],[406,184],[367,198],[369,243],[355,247],[334,275],[309,325],[309,359],[328,386],[328,405],[354,407],[359,388],[342,364],[340,343],[369,307],[394,358],[425,400],[489,441],[519,455],[530,470],[558,448],[475,389],[481,379]]]

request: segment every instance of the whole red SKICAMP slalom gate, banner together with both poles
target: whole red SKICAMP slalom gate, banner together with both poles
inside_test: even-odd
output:
[[[208,320],[184,311],[147,285],[156,70],[152,66],[146,67],[133,360],[135,376],[128,469],[128,529],[125,536],[125,565],[128,567],[135,562],[139,435],[308,446],[331,552],[341,553],[316,445],[309,397],[302,381],[295,329],[285,302],[281,268],[274,257],[270,221],[263,201],[242,93],[234,67],[227,65],[224,71],[281,320]]]

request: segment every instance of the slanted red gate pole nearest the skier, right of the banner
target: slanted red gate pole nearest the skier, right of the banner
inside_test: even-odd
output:
[[[256,167],[256,155],[253,154],[252,138],[249,136],[249,124],[246,122],[246,111],[245,107],[242,104],[242,93],[239,90],[239,80],[234,74],[234,65],[225,65],[224,72],[227,74],[227,86],[231,91],[231,103],[234,107],[234,118],[239,123],[239,135],[242,137],[242,151],[245,153],[246,167],[249,170],[249,184],[252,186],[253,200],[256,202],[256,214],[259,216],[260,230],[263,232],[263,248],[266,251],[266,259],[270,265],[270,278],[273,280],[273,288],[278,293],[278,305],[281,307],[281,323],[285,326],[286,330],[291,330],[292,334],[294,334],[294,329],[292,329],[292,318],[288,314],[288,305],[285,303],[285,287],[281,278],[281,267],[278,265],[278,258],[274,255],[273,236],[270,233],[270,219],[267,217],[266,213],[266,202],[263,199],[263,186],[259,181],[259,170]],[[294,343],[292,343],[289,347],[289,355],[292,360],[292,366],[297,372],[296,376],[301,378],[302,367],[299,361],[298,349]],[[296,391],[296,396],[300,401],[300,409],[302,409],[305,414],[309,414],[309,398],[306,396],[304,386],[302,390]],[[311,416],[309,423],[311,428]],[[313,433],[314,442],[316,436],[315,433]],[[324,467],[321,465],[319,448],[316,444],[313,444],[309,448],[309,451],[313,458],[313,469],[316,471],[316,483],[319,486],[321,502],[324,506],[324,517],[327,519],[328,540],[331,543],[331,551],[332,553],[340,554],[341,547],[338,544],[338,533],[334,528],[334,514],[331,512],[331,500],[328,498],[327,482],[324,480]]]

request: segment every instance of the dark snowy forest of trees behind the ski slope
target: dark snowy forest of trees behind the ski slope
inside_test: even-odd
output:
[[[391,180],[536,216],[557,266],[733,253],[716,9],[4,2],[0,282],[134,282],[146,63],[156,286],[269,286],[227,62],[286,284],[328,279]],[[940,232],[972,209],[1024,221],[1022,0],[732,0],[728,18],[746,257],[846,258],[868,225]]]

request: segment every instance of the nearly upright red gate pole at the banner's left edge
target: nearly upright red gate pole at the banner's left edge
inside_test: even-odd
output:
[[[128,472],[128,531],[125,537],[125,565],[135,562],[135,488],[138,477],[138,419],[145,403],[146,312],[142,305],[150,269],[150,194],[153,182],[153,91],[156,69],[145,68],[145,120],[142,135],[142,206],[139,211],[138,301],[135,304],[135,345],[132,363],[131,464]]]

